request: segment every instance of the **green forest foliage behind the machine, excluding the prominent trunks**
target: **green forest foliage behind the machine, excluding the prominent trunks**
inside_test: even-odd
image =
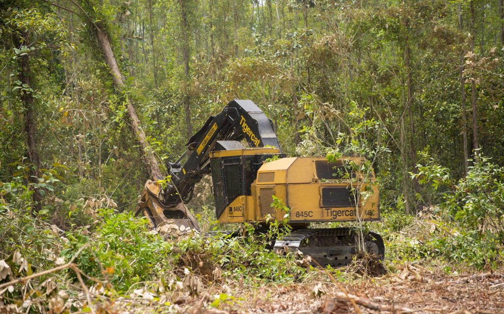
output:
[[[402,199],[414,211],[436,199],[409,176],[417,150],[428,147],[455,177],[464,175],[463,131],[469,157],[473,139],[472,79],[479,148],[503,163],[499,3],[461,1],[461,31],[458,4],[187,2],[187,78],[177,2],[83,1],[82,8],[110,34],[127,77],[127,97],[160,160],[172,161],[183,151],[186,114],[196,130],[233,98],[256,102],[274,120],[291,155],[325,154],[338,146],[337,134],[351,131],[343,118],[357,104],[383,128],[379,138],[364,134],[366,140],[390,149],[374,165],[383,204]],[[83,196],[111,196],[121,210],[132,209],[146,172],[128,128],[124,96],[114,93],[94,30],[78,7],[66,8],[78,15],[45,2],[8,3],[2,11],[0,180],[11,180],[13,163],[30,162],[23,160],[26,108],[19,94],[30,89],[41,167],[65,165],[66,186],[86,178],[94,189]],[[27,29],[33,32],[17,46],[12,38]],[[23,54],[30,58],[29,87],[17,80],[16,60]],[[466,125],[459,85],[464,55]],[[74,201],[56,189],[59,198]],[[194,208],[200,205],[197,200]]]

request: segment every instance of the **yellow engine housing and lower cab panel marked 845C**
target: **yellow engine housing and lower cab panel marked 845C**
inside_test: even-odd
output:
[[[345,160],[357,165],[361,162],[358,158]],[[283,220],[286,212],[272,206],[273,196],[290,209],[292,223],[379,219],[374,173],[369,178],[359,173],[345,177],[342,165],[343,161],[329,163],[324,157],[282,158],[265,163],[251,185],[251,195],[238,196],[219,221],[266,221],[268,217]]]

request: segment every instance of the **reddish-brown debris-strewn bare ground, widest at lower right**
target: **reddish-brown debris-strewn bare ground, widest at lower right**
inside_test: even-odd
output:
[[[380,278],[359,278],[347,284],[324,277],[319,283],[261,288],[221,284],[199,296],[171,294],[171,302],[163,297],[150,302],[118,299],[114,306],[132,313],[504,313],[503,272],[446,275],[402,265]],[[215,306],[219,293],[227,297]]]

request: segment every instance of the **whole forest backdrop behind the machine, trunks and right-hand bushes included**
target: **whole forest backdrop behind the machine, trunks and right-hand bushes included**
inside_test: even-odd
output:
[[[433,217],[435,237],[390,236],[394,258],[498,264],[502,0],[1,6],[1,259],[31,254],[44,224],[92,231],[99,208],[131,212],[210,115],[250,99],[290,156],[371,156],[384,230]],[[208,180],[188,205],[207,227]]]

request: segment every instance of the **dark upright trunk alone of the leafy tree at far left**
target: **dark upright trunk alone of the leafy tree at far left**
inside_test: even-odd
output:
[[[26,38],[28,35],[25,32],[21,31],[22,37],[15,38],[15,44],[18,49],[21,49],[23,45],[23,38]],[[28,88],[32,88],[31,86],[31,68],[30,68],[30,60],[29,54],[25,54],[22,56],[18,56],[17,62],[20,68],[18,73],[18,80],[21,82],[23,86],[27,86],[21,90],[20,99],[24,106],[24,118],[25,118],[25,131],[27,135],[27,144],[28,144],[28,159],[32,165],[30,165],[30,170],[28,172],[28,182],[31,184],[38,183],[37,178],[39,177],[40,171],[40,157],[37,151],[37,141],[35,138],[36,124],[35,124],[35,108],[32,92],[27,91]],[[32,189],[32,188],[30,188]],[[41,194],[38,188],[33,188],[32,197],[32,214],[34,212],[38,212],[42,209],[41,204]]]

